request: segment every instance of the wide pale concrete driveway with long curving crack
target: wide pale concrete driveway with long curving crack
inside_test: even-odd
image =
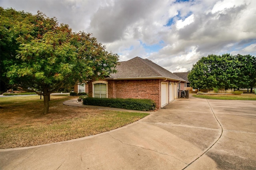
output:
[[[0,150],[0,169],[255,170],[256,101],[178,99],[110,132]]]

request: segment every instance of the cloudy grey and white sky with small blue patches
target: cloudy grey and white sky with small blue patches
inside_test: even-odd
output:
[[[92,33],[119,61],[187,72],[210,54],[256,56],[256,0],[0,0]]]

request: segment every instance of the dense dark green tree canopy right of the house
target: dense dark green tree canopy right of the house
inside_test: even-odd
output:
[[[256,58],[251,55],[208,55],[188,74],[190,86],[202,89],[252,88],[256,83]]]

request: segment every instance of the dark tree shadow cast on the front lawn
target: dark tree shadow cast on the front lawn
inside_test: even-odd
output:
[[[68,100],[73,98],[77,97],[71,97]],[[50,101],[49,114],[47,115],[42,115],[43,101],[26,102],[18,106],[15,103],[1,105],[0,124],[4,123],[12,126],[32,125],[38,122],[49,124],[52,121],[84,117],[88,114],[94,115],[101,112],[98,109],[63,105],[65,100],[67,99]]]

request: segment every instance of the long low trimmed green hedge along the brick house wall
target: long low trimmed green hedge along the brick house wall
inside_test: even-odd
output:
[[[150,99],[84,98],[83,104],[141,111],[150,111],[156,107],[156,103]]]

